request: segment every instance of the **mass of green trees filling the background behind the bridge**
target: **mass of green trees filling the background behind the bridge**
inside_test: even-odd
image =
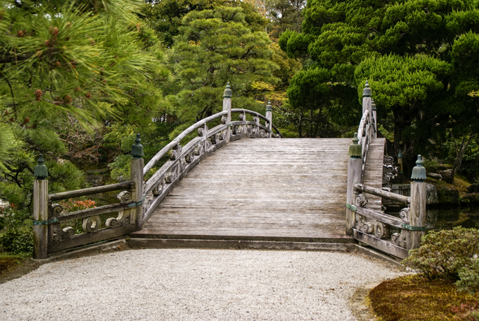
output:
[[[39,153],[50,192],[128,180],[135,134],[148,162],[227,81],[284,136],[338,137],[369,80],[406,175],[420,153],[476,180],[478,31],[477,0],[0,0],[3,228],[31,218]]]

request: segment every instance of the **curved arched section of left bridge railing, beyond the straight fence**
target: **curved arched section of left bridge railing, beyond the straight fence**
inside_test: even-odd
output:
[[[231,94],[228,91],[229,84],[225,90],[223,111],[192,124],[145,165],[143,175],[146,175],[159,159],[169,153],[170,159],[146,181],[143,187],[143,214],[141,220],[138,221],[138,229],[141,229],[176,184],[196,164],[218,148],[241,138],[283,137],[276,126],[272,124],[271,104],[266,106],[266,116],[248,109],[231,109]],[[231,120],[232,113],[239,113],[238,121]],[[247,120],[246,114],[253,115],[252,121]],[[221,118],[221,124],[209,129],[207,123],[218,118]],[[264,124],[260,123],[260,119],[264,120]],[[278,134],[274,134],[271,129],[276,129]],[[180,142],[183,138],[195,130],[198,132],[198,136],[182,146]]]

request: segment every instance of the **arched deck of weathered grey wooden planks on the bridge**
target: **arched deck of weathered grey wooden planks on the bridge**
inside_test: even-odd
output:
[[[229,143],[196,165],[134,237],[350,242],[345,235],[350,143],[350,138]],[[371,151],[369,158],[380,154],[381,179],[382,152]],[[378,184],[376,176],[367,178],[374,181],[364,183]]]

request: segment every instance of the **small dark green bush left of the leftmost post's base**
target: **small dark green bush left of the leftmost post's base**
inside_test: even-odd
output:
[[[34,252],[34,232],[28,227],[8,229],[0,235],[0,248],[15,254]]]

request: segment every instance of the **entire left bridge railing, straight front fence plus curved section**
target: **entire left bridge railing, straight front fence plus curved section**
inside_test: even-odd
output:
[[[231,113],[238,113],[239,120],[232,121]],[[247,120],[247,114],[252,115],[252,121]],[[208,123],[217,123],[218,119],[220,124],[208,128]],[[181,145],[195,131],[197,136]],[[47,259],[53,252],[140,230],[164,197],[196,164],[230,141],[241,138],[283,138],[283,135],[272,122],[271,104],[266,106],[266,115],[248,109],[231,109],[228,83],[224,91],[223,110],[185,129],[145,166],[143,145],[137,134],[131,148],[131,179],[127,182],[48,194],[48,170],[43,165],[43,157],[40,157],[34,180],[34,259]],[[169,160],[144,182],[145,176],[165,155],[169,155]],[[114,191],[121,191],[117,195],[120,203],[70,213],[62,213],[64,208],[55,203]],[[82,220],[80,229],[67,226],[73,225],[71,222],[75,220]]]

